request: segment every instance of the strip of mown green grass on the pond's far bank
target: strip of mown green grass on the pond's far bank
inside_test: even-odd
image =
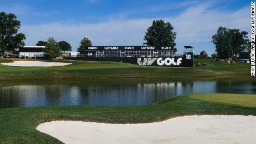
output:
[[[11,61],[12,59],[0,58],[0,63]],[[193,68],[139,66],[117,62],[65,62],[73,62],[73,64],[62,67],[11,67],[0,64],[0,80],[250,75],[250,64],[219,63],[214,59],[195,59],[195,63],[205,62],[208,66]]]

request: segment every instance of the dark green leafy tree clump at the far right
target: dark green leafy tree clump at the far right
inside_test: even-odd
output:
[[[217,33],[212,37],[218,56],[231,58],[237,56],[239,52],[245,51],[249,42],[247,34],[245,31],[240,32],[239,29],[219,27]]]

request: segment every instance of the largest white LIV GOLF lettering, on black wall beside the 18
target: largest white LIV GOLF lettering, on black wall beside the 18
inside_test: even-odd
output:
[[[137,58],[137,64],[142,66],[180,66],[182,61],[181,57]]]

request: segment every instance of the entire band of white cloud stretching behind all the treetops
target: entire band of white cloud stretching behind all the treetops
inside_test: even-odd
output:
[[[162,18],[171,22],[177,33],[177,43],[209,42],[219,26],[239,28],[249,31],[249,11],[244,7],[235,12],[211,9],[209,4],[200,4],[186,9],[176,17]],[[154,19],[160,19],[156,17]],[[26,44],[34,45],[47,37],[71,43],[78,47],[83,37],[92,40],[93,45],[141,45],[147,27],[152,19],[111,19],[94,24],[44,23],[22,25],[21,32],[26,34]]]

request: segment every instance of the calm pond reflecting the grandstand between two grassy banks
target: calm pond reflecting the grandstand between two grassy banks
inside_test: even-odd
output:
[[[256,95],[251,77],[1,81],[0,108],[147,105],[188,93]]]

